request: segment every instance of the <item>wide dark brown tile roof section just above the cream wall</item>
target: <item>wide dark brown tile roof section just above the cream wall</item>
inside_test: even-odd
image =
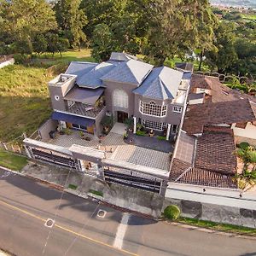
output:
[[[247,99],[232,102],[206,102],[189,105],[185,114],[183,131],[202,133],[205,125],[223,125],[256,120],[254,103]]]

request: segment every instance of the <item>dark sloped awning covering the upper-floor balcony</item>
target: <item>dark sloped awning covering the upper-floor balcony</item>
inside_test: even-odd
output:
[[[64,100],[94,105],[98,98],[102,96],[103,91],[103,88],[87,89],[74,86],[64,97]]]

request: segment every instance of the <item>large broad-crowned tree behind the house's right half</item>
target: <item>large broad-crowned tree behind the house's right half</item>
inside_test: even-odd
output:
[[[215,19],[208,1],[150,0],[147,12],[151,24],[145,54],[157,65],[202,44],[211,46]]]

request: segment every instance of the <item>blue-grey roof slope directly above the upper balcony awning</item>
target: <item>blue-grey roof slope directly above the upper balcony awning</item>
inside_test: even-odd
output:
[[[102,84],[102,77],[109,73],[114,67],[118,64],[102,62],[92,69],[89,72],[84,73],[84,75],[78,77],[77,84],[80,87],[88,88],[98,88],[104,86]]]

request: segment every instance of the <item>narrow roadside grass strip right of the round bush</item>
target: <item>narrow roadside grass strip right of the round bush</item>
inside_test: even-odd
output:
[[[196,218],[179,218],[177,221],[183,224],[191,224],[201,228],[238,233],[248,236],[256,236],[256,229],[250,229],[231,224],[218,224],[212,221],[199,220]]]

